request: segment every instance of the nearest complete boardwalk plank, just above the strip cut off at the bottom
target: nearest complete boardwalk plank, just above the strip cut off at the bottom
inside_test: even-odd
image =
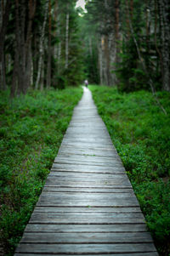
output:
[[[143,244],[27,244],[20,243],[16,253],[151,253],[152,243]]]

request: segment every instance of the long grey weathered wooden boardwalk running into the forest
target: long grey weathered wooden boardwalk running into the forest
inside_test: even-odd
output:
[[[84,88],[15,256],[157,256],[122,162]]]

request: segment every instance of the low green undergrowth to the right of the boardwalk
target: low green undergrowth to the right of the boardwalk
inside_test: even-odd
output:
[[[90,87],[139,199],[158,252],[170,255],[170,94],[157,93],[167,116],[146,91],[120,94]]]

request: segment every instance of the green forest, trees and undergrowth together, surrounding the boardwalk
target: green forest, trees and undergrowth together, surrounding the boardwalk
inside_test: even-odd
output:
[[[0,3],[0,255],[14,255],[88,79],[169,256],[170,3],[82,2]]]

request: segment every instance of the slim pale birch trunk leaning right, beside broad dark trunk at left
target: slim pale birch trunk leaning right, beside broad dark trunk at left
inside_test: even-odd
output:
[[[38,89],[40,77],[41,77],[41,71],[42,71],[43,43],[44,43],[44,37],[45,37],[45,26],[46,26],[47,17],[48,17],[48,1],[49,0],[47,0],[46,7],[45,7],[44,20],[42,24],[42,33],[40,37],[39,60],[37,65],[37,80],[36,80],[36,86],[35,86],[36,89]]]

